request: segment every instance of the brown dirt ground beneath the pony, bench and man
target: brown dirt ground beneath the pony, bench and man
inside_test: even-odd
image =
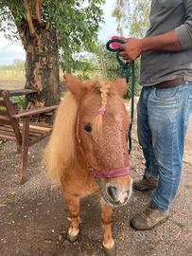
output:
[[[135,231],[130,219],[149,202],[150,192],[133,191],[128,206],[114,210],[117,256],[192,255],[192,120],[186,138],[183,175],[167,222],[149,231]],[[133,135],[131,174],[142,176],[144,159]],[[41,153],[46,140],[30,148],[28,178],[18,185],[20,155],[13,142],[0,145],[0,255],[1,256],[104,256],[99,205],[90,196],[81,201],[79,240],[60,240],[68,227],[61,190],[44,174]]]

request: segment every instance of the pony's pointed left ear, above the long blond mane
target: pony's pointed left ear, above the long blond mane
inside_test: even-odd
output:
[[[68,73],[64,74],[64,80],[66,82],[67,89],[79,99],[85,87],[83,82],[80,82],[75,76]]]

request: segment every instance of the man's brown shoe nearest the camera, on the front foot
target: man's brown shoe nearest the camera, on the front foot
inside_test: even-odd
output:
[[[133,229],[137,230],[148,230],[152,229],[156,225],[164,223],[167,218],[168,210],[166,212],[162,212],[150,205],[146,210],[136,214],[131,219],[131,226]]]

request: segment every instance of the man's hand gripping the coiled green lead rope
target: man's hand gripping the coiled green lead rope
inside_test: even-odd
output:
[[[119,47],[119,55],[128,63],[133,62],[142,53],[142,39],[129,38]]]

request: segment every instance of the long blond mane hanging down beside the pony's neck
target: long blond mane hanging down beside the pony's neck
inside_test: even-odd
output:
[[[53,131],[44,151],[44,165],[51,179],[60,181],[65,170],[76,159],[76,137],[74,134],[78,102],[71,92],[61,101]]]

